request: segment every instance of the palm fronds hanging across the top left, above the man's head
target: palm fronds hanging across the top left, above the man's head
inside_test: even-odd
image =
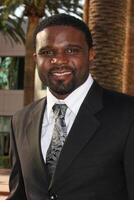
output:
[[[19,6],[24,7],[20,17],[15,12]],[[22,23],[25,16],[41,18],[61,12],[82,17],[83,8],[79,0],[3,0],[0,6],[0,32],[15,42],[24,43]]]

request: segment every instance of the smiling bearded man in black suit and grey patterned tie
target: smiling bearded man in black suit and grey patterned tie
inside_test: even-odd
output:
[[[92,79],[92,37],[81,20],[49,17],[37,27],[34,43],[47,97],[12,119],[8,199],[134,200],[133,97]],[[59,121],[55,104],[67,106]],[[62,136],[66,132],[58,156],[52,152],[55,126]]]

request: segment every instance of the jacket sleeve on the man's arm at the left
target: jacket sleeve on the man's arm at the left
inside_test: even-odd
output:
[[[11,160],[11,174],[9,178],[10,195],[7,200],[27,200],[24,181],[21,171],[20,160],[15,142],[14,128],[11,123],[10,133],[10,160]]]

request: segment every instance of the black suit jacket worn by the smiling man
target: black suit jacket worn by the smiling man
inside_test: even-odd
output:
[[[46,100],[12,120],[10,200],[134,200],[134,98],[93,83],[48,178],[41,154]]]

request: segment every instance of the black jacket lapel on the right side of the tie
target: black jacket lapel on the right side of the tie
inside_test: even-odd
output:
[[[102,89],[95,82],[87,94],[66,139],[50,188],[53,183],[58,184],[62,174],[69,169],[75,157],[94,136],[100,124],[95,114],[101,109]]]

